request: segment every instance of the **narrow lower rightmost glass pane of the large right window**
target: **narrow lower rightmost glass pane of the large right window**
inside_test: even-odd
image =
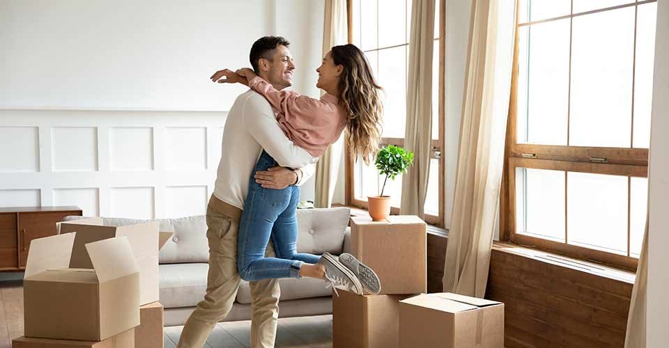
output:
[[[638,258],[641,253],[643,232],[648,209],[648,179],[632,177],[629,196],[629,254]]]

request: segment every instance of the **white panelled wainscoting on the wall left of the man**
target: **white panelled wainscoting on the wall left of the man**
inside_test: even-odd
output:
[[[0,206],[76,205],[84,215],[137,219],[204,214],[225,118],[0,111]]]

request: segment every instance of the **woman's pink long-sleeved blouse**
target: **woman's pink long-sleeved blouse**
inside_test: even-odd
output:
[[[293,90],[279,91],[261,77],[251,79],[249,87],[270,102],[284,134],[314,157],[323,155],[346,127],[346,112],[334,95],[318,100]]]

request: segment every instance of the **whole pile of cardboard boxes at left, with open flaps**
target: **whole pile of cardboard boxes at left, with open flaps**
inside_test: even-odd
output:
[[[31,243],[26,337],[15,345],[162,347],[158,251],[171,233],[157,223],[103,226],[100,218],[59,223],[59,233]]]

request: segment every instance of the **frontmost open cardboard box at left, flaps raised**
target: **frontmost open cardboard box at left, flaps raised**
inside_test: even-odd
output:
[[[33,239],[23,280],[29,338],[101,341],[139,325],[139,268],[126,237],[86,244],[93,269],[69,269],[75,234]]]

